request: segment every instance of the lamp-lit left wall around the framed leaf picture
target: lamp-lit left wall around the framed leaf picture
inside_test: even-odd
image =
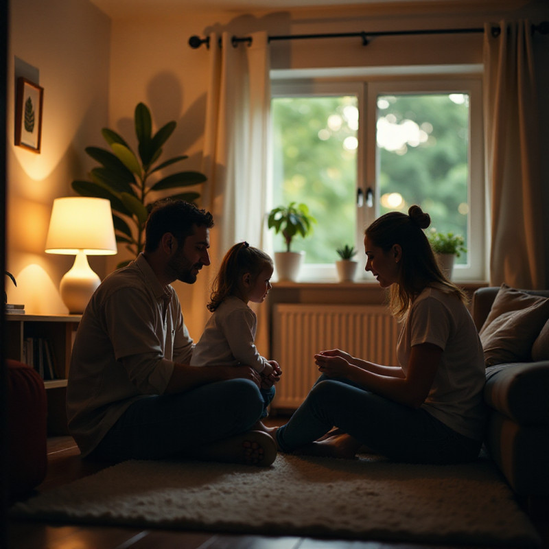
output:
[[[7,269],[9,303],[27,314],[66,313],[58,294],[72,256],[44,253],[54,198],[91,167],[84,147],[100,145],[108,123],[110,20],[88,0],[25,0],[10,5],[8,55]],[[44,88],[40,154],[14,145],[16,78]],[[104,258],[93,258],[100,277]]]

